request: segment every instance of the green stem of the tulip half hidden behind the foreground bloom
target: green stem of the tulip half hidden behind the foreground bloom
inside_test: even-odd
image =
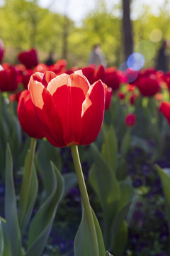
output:
[[[30,181],[32,176],[32,170],[33,170],[33,159],[35,155],[35,146],[36,146],[37,140],[35,138],[31,138],[30,140],[30,154],[28,159],[28,168],[25,169],[25,172],[23,173],[23,182],[21,185],[21,202],[23,203],[22,209],[21,209],[21,216],[19,218],[20,224],[22,226],[23,220],[26,215],[27,210],[27,204],[28,204],[28,196],[30,193]],[[24,200],[22,200],[22,197],[24,196]]]

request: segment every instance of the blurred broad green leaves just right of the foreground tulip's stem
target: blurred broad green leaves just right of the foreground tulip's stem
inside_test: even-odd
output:
[[[130,184],[125,181],[118,181],[115,170],[108,166],[107,159],[103,158],[94,144],[91,144],[91,152],[95,164],[91,167],[89,181],[103,210],[105,244],[115,255],[121,255],[128,240],[125,216],[134,196],[134,191]],[[111,153],[113,154],[112,151]]]

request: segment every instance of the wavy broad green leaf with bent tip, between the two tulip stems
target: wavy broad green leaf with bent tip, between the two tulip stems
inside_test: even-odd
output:
[[[55,219],[57,207],[62,199],[64,182],[60,171],[58,171],[55,164],[51,162],[51,169],[49,169],[48,172],[51,172],[49,175],[51,178],[51,193],[30,224],[28,250],[25,256],[42,255],[42,251],[44,250],[52,228],[52,223]]]

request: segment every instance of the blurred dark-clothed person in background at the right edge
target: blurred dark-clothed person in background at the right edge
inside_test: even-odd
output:
[[[164,40],[161,48],[159,48],[156,60],[157,70],[162,70],[163,72],[167,72],[169,70],[169,55],[167,54],[168,46],[168,41]]]

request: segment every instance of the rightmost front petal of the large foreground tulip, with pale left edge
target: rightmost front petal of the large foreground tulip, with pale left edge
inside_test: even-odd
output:
[[[105,92],[103,83],[98,80],[91,85],[82,108],[82,134],[81,145],[94,142],[101,129],[105,105]]]

